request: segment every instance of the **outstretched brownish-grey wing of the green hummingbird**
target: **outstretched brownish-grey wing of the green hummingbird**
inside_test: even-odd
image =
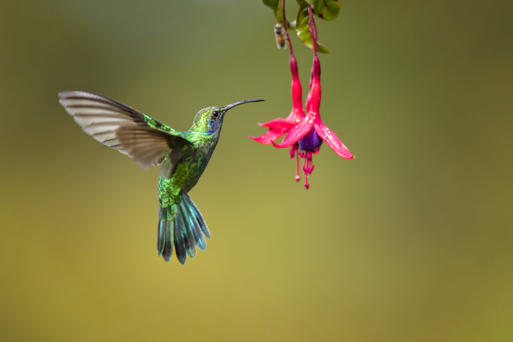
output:
[[[171,155],[176,163],[194,149],[181,132],[115,100],[83,90],[62,91],[59,97],[88,135],[133,158],[143,168],[158,165]]]

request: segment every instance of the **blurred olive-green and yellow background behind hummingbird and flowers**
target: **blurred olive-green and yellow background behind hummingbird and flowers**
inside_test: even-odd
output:
[[[341,5],[321,115],[357,158],[324,144],[306,191],[247,138],[291,107],[260,1],[3,0],[0,339],[512,340],[511,2]],[[206,252],[157,257],[157,169],[82,132],[65,89],[181,130],[266,100],[229,112],[190,193]]]

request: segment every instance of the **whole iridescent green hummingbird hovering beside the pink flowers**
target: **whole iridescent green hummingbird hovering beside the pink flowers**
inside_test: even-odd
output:
[[[226,112],[251,99],[196,113],[187,131],[175,130],[145,113],[84,90],[58,93],[59,102],[82,129],[104,145],[133,158],[141,167],[162,164],[158,182],[157,252],[184,264],[207,248],[210,231],[188,192],[198,183],[218,144]]]

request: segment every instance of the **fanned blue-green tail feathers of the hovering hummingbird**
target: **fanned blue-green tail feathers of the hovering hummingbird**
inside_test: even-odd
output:
[[[196,256],[196,245],[205,251],[207,243],[203,235],[210,238],[208,227],[198,207],[185,191],[176,198],[174,204],[159,203],[157,252],[164,260],[171,260],[173,244],[181,264],[185,263],[187,256]]]

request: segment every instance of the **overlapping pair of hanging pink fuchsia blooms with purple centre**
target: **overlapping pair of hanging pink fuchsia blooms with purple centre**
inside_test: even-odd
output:
[[[305,174],[305,188],[308,189],[308,175],[313,171],[312,154],[318,154],[323,141],[335,151],[337,155],[345,159],[353,158],[346,146],[340,141],[337,135],[329,129],[321,120],[319,108],[321,106],[321,63],[317,57],[317,28],[313,22],[311,7],[308,6],[310,15],[310,30],[313,40],[313,63],[310,73],[310,91],[306,98],[306,115],[301,103],[301,84],[299,82],[297,61],[292,54],[290,44],[290,70],[292,71],[292,110],[286,119],[274,119],[260,126],[268,127],[269,130],[260,137],[250,137],[261,144],[272,143],[274,147],[290,147],[290,158],[296,156],[297,172],[295,179],[300,180],[299,176],[299,158],[304,158],[303,172]],[[274,140],[285,133],[286,136],[282,143],[277,144]]]

